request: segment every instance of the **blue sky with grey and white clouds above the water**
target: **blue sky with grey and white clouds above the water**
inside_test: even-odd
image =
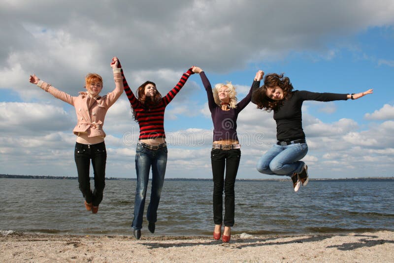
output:
[[[132,90],[145,80],[165,95],[190,66],[212,84],[231,81],[238,99],[259,69],[284,72],[296,90],[358,93],[359,100],[303,104],[311,178],[393,176],[392,0],[0,0],[0,173],[76,176],[74,109],[29,83],[29,75],[76,96],[84,76],[114,88],[111,58]],[[212,121],[199,75],[165,112],[167,178],[211,178]],[[126,95],[109,109],[107,177],[135,178],[138,125]],[[237,178],[275,143],[272,113],[239,115]]]

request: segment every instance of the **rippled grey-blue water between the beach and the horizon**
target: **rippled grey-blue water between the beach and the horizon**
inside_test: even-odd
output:
[[[93,182],[92,182],[93,183]],[[156,233],[211,235],[211,181],[165,181]],[[149,184],[150,186],[150,184]],[[237,181],[233,234],[394,230],[394,181]],[[135,181],[106,181],[99,213],[85,210],[77,180],[0,178],[0,230],[131,235]],[[149,192],[147,194],[149,199]]]

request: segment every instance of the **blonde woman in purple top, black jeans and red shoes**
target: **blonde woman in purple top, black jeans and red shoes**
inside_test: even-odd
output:
[[[249,94],[237,103],[235,88],[231,83],[217,84],[212,90],[204,71],[193,67],[193,72],[199,73],[202,84],[208,96],[208,106],[213,121],[213,145],[211,163],[213,173],[213,220],[214,239],[220,239],[222,222],[225,225],[223,242],[230,240],[230,228],[234,225],[234,183],[241,158],[241,145],[237,137],[237,117],[251,101],[253,88],[260,86],[264,72],[256,73]],[[226,177],[225,177],[226,169]],[[223,189],[225,192],[225,216],[223,220]]]

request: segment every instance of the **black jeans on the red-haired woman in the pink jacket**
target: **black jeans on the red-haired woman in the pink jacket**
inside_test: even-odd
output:
[[[81,190],[86,202],[98,206],[102,200],[102,193],[105,187],[105,163],[107,160],[105,143],[82,144],[77,142],[75,144],[74,158],[78,170],[79,190]],[[90,189],[90,160],[92,160],[95,176],[95,190],[93,192]]]

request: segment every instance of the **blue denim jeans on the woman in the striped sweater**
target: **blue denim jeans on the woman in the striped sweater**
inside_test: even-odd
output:
[[[167,165],[167,147],[150,150],[137,144],[135,150],[135,170],[137,185],[134,201],[134,219],[131,227],[135,230],[142,228],[142,218],[145,207],[146,190],[148,188],[149,170],[152,167],[152,189],[146,218],[148,222],[156,223],[157,209],[164,183],[165,167]]]

